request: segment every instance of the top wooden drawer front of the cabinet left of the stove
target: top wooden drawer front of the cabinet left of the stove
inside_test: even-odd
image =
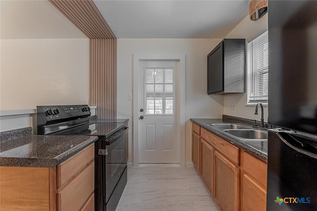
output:
[[[95,145],[92,144],[73,157],[57,165],[57,189],[65,186],[95,158]]]

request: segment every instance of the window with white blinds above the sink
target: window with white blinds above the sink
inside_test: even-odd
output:
[[[268,35],[267,31],[248,43],[248,104],[267,103]]]

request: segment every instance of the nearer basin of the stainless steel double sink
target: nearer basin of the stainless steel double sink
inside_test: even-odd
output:
[[[263,130],[224,130],[224,132],[229,133],[233,136],[242,138],[242,139],[257,139],[257,140],[263,140],[267,139],[267,131]]]

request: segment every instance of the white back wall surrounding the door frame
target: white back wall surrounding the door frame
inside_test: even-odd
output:
[[[207,95],[207,54],[221,39],[118,39],[117,118],[129,118],[132,125],[133,55],[186,54],[186,162],[191,161],[190,118],[221,118],[223,96]],[[133,140],[129,131],[129,162],[133,161]]]

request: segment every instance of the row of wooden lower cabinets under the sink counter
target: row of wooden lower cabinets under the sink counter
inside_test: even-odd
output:
[[[266,162],[194,123],[192,160],[221,211],[266,210]]]

